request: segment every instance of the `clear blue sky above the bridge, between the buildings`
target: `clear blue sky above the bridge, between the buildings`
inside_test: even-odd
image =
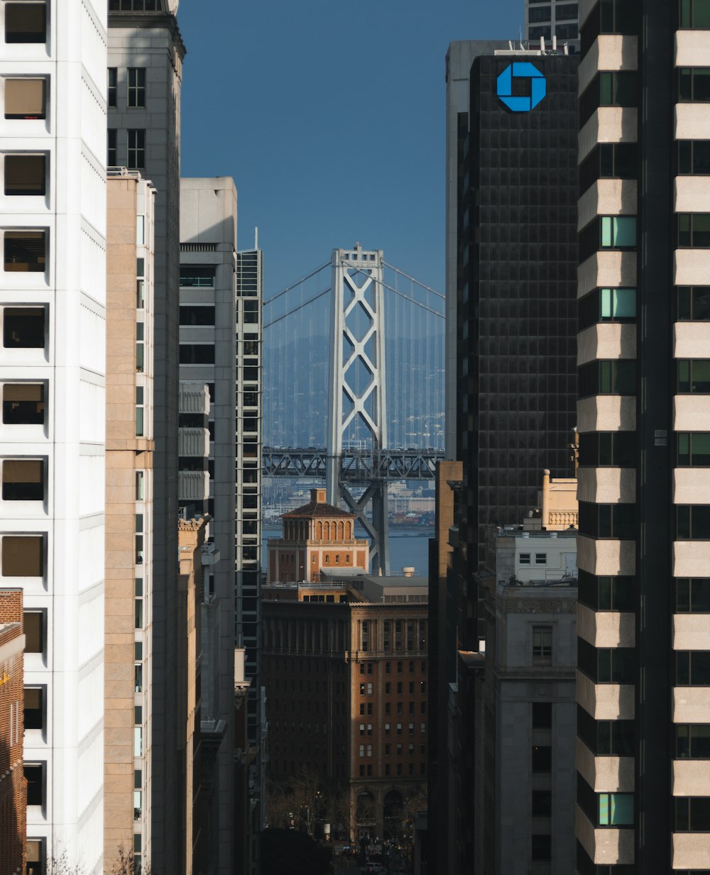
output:
[[[523,7],[182,0],[182,174],[235,178],[267,297],[356,240],[443,290],[446,46],[517,38]]]

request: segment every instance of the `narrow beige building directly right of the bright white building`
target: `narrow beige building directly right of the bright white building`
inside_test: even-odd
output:
[[[149,841],[153,215],[137,171],[109,177],[106,347],[104,861]]]

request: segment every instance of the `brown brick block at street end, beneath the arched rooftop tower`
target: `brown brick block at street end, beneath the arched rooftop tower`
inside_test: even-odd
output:
[[[270,780],[315,776],[334,835],[387,837],[426,788],[427,581],[327,577],[263,591]]]

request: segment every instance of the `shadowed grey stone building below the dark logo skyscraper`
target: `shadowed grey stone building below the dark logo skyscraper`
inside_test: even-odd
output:
[[[460,725],[456,794],[473,830],[466,820],[456,830],[458,872],[470,852],[474,871],[489,875],[573,872],[575,535],[503,531],[492,579],[481,575],[485,655],[472,655],[473,700],[461,697],[472,725]]]

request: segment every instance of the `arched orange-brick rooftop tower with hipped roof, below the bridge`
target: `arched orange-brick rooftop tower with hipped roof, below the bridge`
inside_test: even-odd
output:
[[[327,504],[325,489],[312,489],[310,502],[283,521],[284,536],[269,539],[269,581],[319,580],[322,568],[369,570],[369,543],[355,538],[355,516]]]

